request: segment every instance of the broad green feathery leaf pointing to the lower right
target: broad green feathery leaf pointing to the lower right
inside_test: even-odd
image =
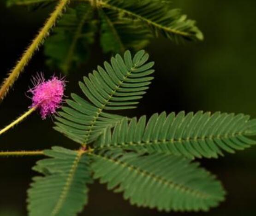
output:
[[[198,163],[166,155],[122,151],[91,154],[94,177],[108,189],[124,192],[137,206],[158,210],[208,210],[224,199],[219,181]]]

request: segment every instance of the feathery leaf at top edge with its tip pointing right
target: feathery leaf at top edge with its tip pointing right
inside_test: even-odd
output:
[[[202,32],[196,22],[173,9],[162,0],[105,0],[101,6],[119,12],[123,18],[143,21],[157,36],[159,33],[172,41],[202,40]]]

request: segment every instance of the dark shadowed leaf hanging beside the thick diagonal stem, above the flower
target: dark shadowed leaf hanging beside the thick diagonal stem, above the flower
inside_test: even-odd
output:
[[[94,42],[96,25],[89,4],[68,8],[45,43],[47,64],[68,74],[73,67],[84,63],[89,57],[89,45]]]

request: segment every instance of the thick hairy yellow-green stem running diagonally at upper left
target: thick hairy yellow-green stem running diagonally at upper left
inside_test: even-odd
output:
[[[12,87],[19,74],[24,70],[24,67],[28,64],[30,58],[33,56],[38,47],[42,44],[43,40],[49,35],[50,29],[54,26],[57,18],[62,14],[63,9],[68,4],[69,0],[60,0],[56,6],[54,12],[50,15],[43,28],[36,35],[36,38],[32,41],[30,46],[25,50],[24,54],[13,68],[9,76],[3,82],[0,88],[0,101],[4,99],[9,88]]]

